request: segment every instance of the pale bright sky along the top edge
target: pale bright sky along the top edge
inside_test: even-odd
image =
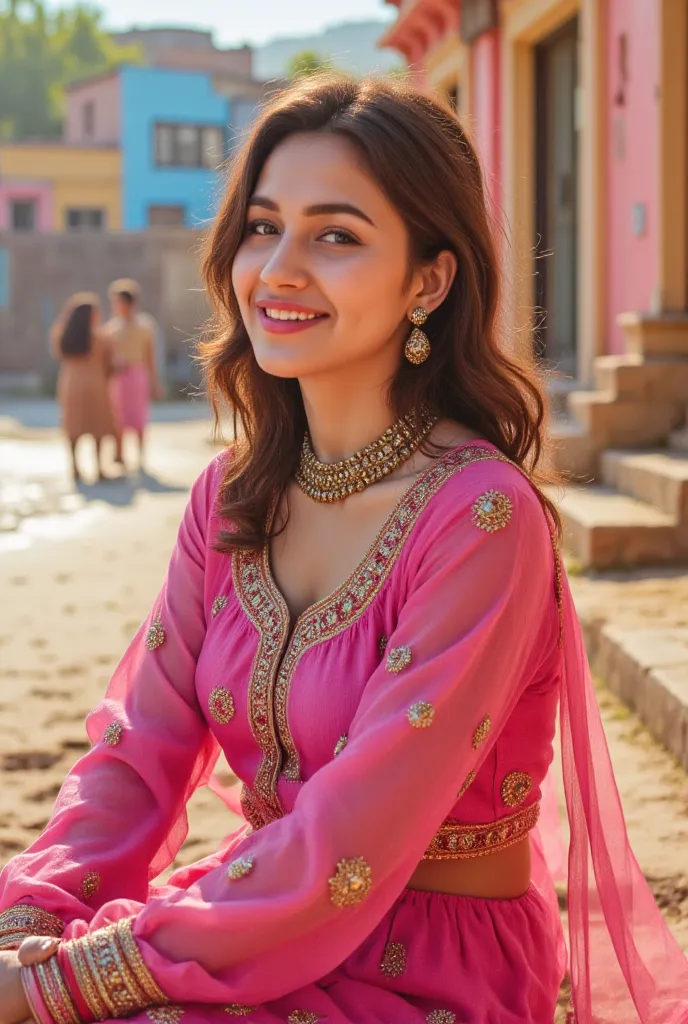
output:
[[[192,26],[214,30],[216,42],[225,46],[310,35],[341,22],[390,19],[395,13],[384,0],[95,0],[95,5],[109,29]]]

